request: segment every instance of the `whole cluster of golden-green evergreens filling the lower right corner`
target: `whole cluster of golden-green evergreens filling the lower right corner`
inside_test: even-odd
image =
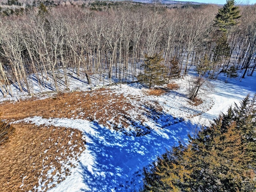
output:
[[[151,170],[144,170],[144,192],[241,191],[256,184],[256,97],[229,108],[212,125],[173,147]]]

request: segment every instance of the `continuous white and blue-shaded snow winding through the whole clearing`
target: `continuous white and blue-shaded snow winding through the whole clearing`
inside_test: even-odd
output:
[[[23,121],[36,125],[53,125],[69,127],[81,130],[86,139],[86,150],[78,158],[76,167],[70,168],[70,176],[67,176],[59,184],[53,181],[48,190],[50,192],[133,192],[143,186],[143,167],[148,166],[157,156],[170,149],[178,141],[186,142],[190,133],[200,121],[207,123],[218,117],[220,112],[226,112],[234,102],[239,103],[247,94],[253,96],[256,93],[255,77],[246,76],[240,81],[225,77],[220,80],[212,80],[214,92],[202,97],[203,103],[199,106],[189,104],[186,98],[186,86],[188,79],[178,80],[180,85],[177,91],[168,92],[162,96],[146,95],[146,89],[140,84],[127,84],[111,86],[116,94],[124,94],[138,97],[137,102],[131,101],[136,106],[142,102],[157,101],[163,111],[157,119],[148,117],[145,126],[151,128],[151,132],[144,136],[128,136],[123,132],[116,132],[96,122],[76,118],[42,118],[34,116]],[[89,88],[86,82],[71,82],[72,89],[78,87],[83,90]],[[78,84],[79,83],[79,84]],[[81,84],[81,85],[80,85]],[[24,98],[22,94],[17,95]],[[7,98],[8,99],[8,98]],[[9,98],[10,99],[10,98]],[[6,100],[6,98],[1,98]],[[134,117],[140,111],[129,111]],[[201,115],[198,115],[201,114]],[[184,118],[184,120],[183,120]],[[40,187],[38,188],[40,190]]]

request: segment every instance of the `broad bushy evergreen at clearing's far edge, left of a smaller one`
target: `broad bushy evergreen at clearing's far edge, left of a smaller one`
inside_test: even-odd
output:
[[[138,75],[138,81],[146,84],[149,88],[166,83],[167,68],[161,63],[163,60],[161,53],[154,54],[152,57],[146,54],[144,64],[142,64],[144,74]]]

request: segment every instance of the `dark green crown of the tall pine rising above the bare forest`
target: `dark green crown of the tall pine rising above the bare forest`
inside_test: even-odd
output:
[[[218,10],[215,22],[219,30],[226,32],[231,26],[236,25],[237,19],[241,17],[238,6],[234,6],[234,0],[227,0],[226,4]]]

